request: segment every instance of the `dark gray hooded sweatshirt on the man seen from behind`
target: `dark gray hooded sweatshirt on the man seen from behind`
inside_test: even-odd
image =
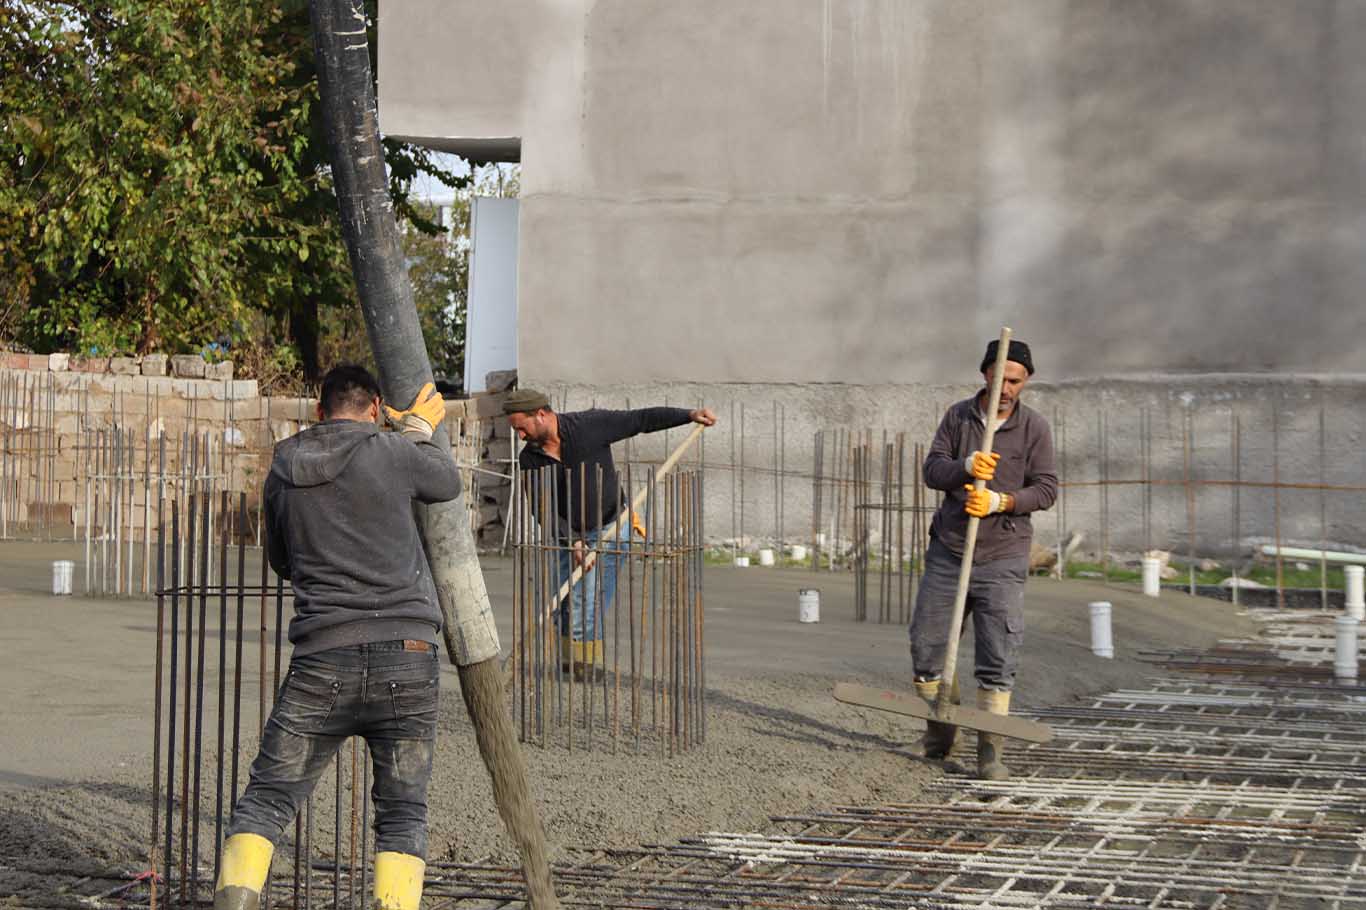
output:
[[[265,481],[266,552],[294,585],[294,653],[434,644],[441,608],[413,500],[459,493],[449,452],[374,424],[325,421],[277,444]]]

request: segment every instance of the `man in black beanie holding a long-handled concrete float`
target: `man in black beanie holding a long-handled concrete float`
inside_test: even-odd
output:
[[[982,358],[986,388],[948,409],[925,456],[925,482],[943,491],[944,501],[930,525],[925,578],[915,598],[910,634],[915,693],[933,704],[940,686],[949,685],[949,694],[956,702],[958,680],[945,683],[940,676],[963,563],[967,519],[970,515],[979,518],[966,607],[966,615],[973,618],[975,639],[977,706],[993,715],[1005,715],[1009,713],[1024,635],[1024,578],[1033,537],[1030,514],[1053,504],[1057,473],[1048,421],[1020,402],[1020,394],[1034,374],[1034,361],[1023,342],[1011,342],[1007,350],[1000,407],[993,415],[997,425],[996,451],[979,451],[999,347],[1000,342],[988,344]],[[973,481],[978,478],[986,481],[986,489],[973,489]],[[945,758],[953,749],[956,731],[952,724],[930,721],[925,734],[925,757]],[[1009,776],[1001,753],[1003,736],[978,732],[979,777],[1001,780]]]

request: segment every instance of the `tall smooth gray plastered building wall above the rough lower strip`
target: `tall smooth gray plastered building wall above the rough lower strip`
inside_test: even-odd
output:
[[[407,0],[380,113],[520,154],[523,374],[1366,372],[1359,0]]]

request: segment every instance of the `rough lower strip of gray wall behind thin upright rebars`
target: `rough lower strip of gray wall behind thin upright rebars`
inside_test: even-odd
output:
[[[527,377],[527,384],[537,384]],[[705,433],[706,529],[713,540],[743,533],[751,547],[777,536],[773,471],[781,465],[783,530],[788,542],[811,538],[813,455],[817,430],[904,432],[907,460],[914,443],[929,443],[944,409],[975,391],[962,385],[664,384],[622,387],[545,385],[561,410],[706,404],[721,422]],[[1082,532],[1085,552],[1102,541],[1119,553],[1149,547],[1177,556],[1247,557],[1274,540],[1287,544],[1366,551],[1366,492],[1285,486],[1366,485],[1366,380],[1255,374],[1132,376],[1037,383],[1024,400],[1053,424],[1063,499],[1035,516],[1037,540]],[[777,413],[775,413],[777,406]],[[1320,448],[1320,414],[1324,450]],[[1233,418],[1239,454],[1233,460]],[[775,439],[775,422],[781,435]],[[638,437],[630,455],[658,462],[684,430]],[[832,441],[826,441],[826,474]],[[743,470],[742,469],[743,437]],[[1187,440],[1190,470],[1187,473]],[[1321,452],[1324,458],[1321,459]],[[617,448],[619,460],[627,455]],[[697,459],[690,459],[695,462]],[[910,473],[910,465],[907,465]],[[743,477],[743,495],[739,478]],[[1186,477],[1194,481],[1187,500]],[[1096,481],[1109,480],[1102,496]],[[1238,525],[1233,525],[1233,486]],[[1149,499],[1141,484],[1152,480]],[[1257,486],[1262,484],[1262,486]],[[826,493],[826,521],[829,499]],[[907,492],[910,500],[910,492]],[[880,497],[877,495],[876,497]],[[740,519],[743,503],[743,519]],[[1194,506],[1194,511],[1188,506]],[[1145,514],[1147,527],[1145,529]],[[848,519],[844,519],[848,529]],[[1193,536],[1194,530],[1194,536]],[[846,530],[847,533],[847,530]]]

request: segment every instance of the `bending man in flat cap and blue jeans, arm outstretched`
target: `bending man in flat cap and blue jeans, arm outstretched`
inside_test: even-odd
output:
[[[598,627],[598,605],[605,612],[616,590],[619,556],[616,552],[630,542],[630,521],[616,522],[626,507],[626,493],[620,489],[616,466],[612,462],[612,443],[639,433],[654,433],[684,424],[712,426],[716,414],[702,407],[645,407],[630,411],[589,410],[557,414],[549,399],[533,389],[508,394],[503,413],[526,447],[518,456],[522,470],[555,467],[557,496],[557,527],[555,536],[564,549],[559,555],[556,588],[568,579],[574,568],[583,563],[589,551],[600,552],[596,563],[583,574],[568,600],[568,609],[560,608],[560,659],[575,671],[585,671],[602,663],[602,630]],[[598,471],[602,488],[598,496]],[[602,503],[601,514],[596,514]],[[586,519],[585,519],[586,515]],[[612,529],[611,540],[608,530]],[[637,525],[643,534],[643,526]]]

